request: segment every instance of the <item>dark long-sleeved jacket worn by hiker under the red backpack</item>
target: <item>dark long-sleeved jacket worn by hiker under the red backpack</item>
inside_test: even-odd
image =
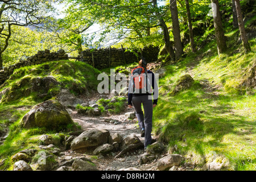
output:
[[[155,75],[153,72],[151,72],[150,70],[147,70],[147,73],[150,73],[149,75],[152,76],[152,78],[150,80],[152,80],[151,82],[151,86],[153,89],[153,95],[154,95],[154,101],[153,104],[158,104],[158,85],[156,83],[156,79],[155,79]],[[131,93],[131,81],[132,79],[130,79],[129,81],[129,92],[128,92],[128,105],[132,105],[131,104],[131,98],[133,97],[137,97],[137,96],[143,96],[143,95],[150,95],[150,93]]]

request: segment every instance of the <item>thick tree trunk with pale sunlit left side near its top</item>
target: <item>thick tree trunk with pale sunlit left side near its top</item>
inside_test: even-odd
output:
[[[218,0],[212,1],[212,11],[213,11],[213,23],[215,29],[215,37],[217,42],[218,55],[224,53],[227,49],[226,38],[224,36],[224,31],[221,22],[220,6],[218,5]]]

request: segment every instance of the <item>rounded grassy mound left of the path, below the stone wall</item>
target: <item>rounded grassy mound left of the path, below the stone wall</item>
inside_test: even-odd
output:
[[[97,89],[97,75],[100,73],[92,66],[81,61],[50,61],[39,65],[22,67],[15,69],[14,74],[6,80],[5,84],[1,85],[0,91],[10,88],[9,94],[2,98],[2,102],[17,101],[26,97],[32,97],[32,100],[38,100],[38,93],[44,93],[45,90],[38,92],[27,92],[31,87],[30,81],[35,78],[43,78],[53,76],[59,82],[59,85],[52,85],[48,90],[47,96],[38,100],[48,100],[59,93],[60,88],[66,88],[71,93],[79,95],[82,93],[92,92]],[[11,97],[13,95],[14,97]]]

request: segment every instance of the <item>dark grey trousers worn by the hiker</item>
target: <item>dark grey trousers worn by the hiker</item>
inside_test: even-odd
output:
[[[148,95],[133,96],[132,102],[135,108],[136,117],[139,121],[139,128],[145,130],[144,147],[147,147],[151,143],[151,131],[152,131],[152,115],[153,115],[153,102],[148,99]],[[144,114],[141,104],[143,105]]]

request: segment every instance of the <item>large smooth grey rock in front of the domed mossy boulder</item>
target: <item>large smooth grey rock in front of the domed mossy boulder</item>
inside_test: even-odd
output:
[[[109,131],[105,129],[93,129],[84,131],[79,137],[73,139],[71,142],[72,150],[79,150],[80,148],[98,146],[108,142]]]

